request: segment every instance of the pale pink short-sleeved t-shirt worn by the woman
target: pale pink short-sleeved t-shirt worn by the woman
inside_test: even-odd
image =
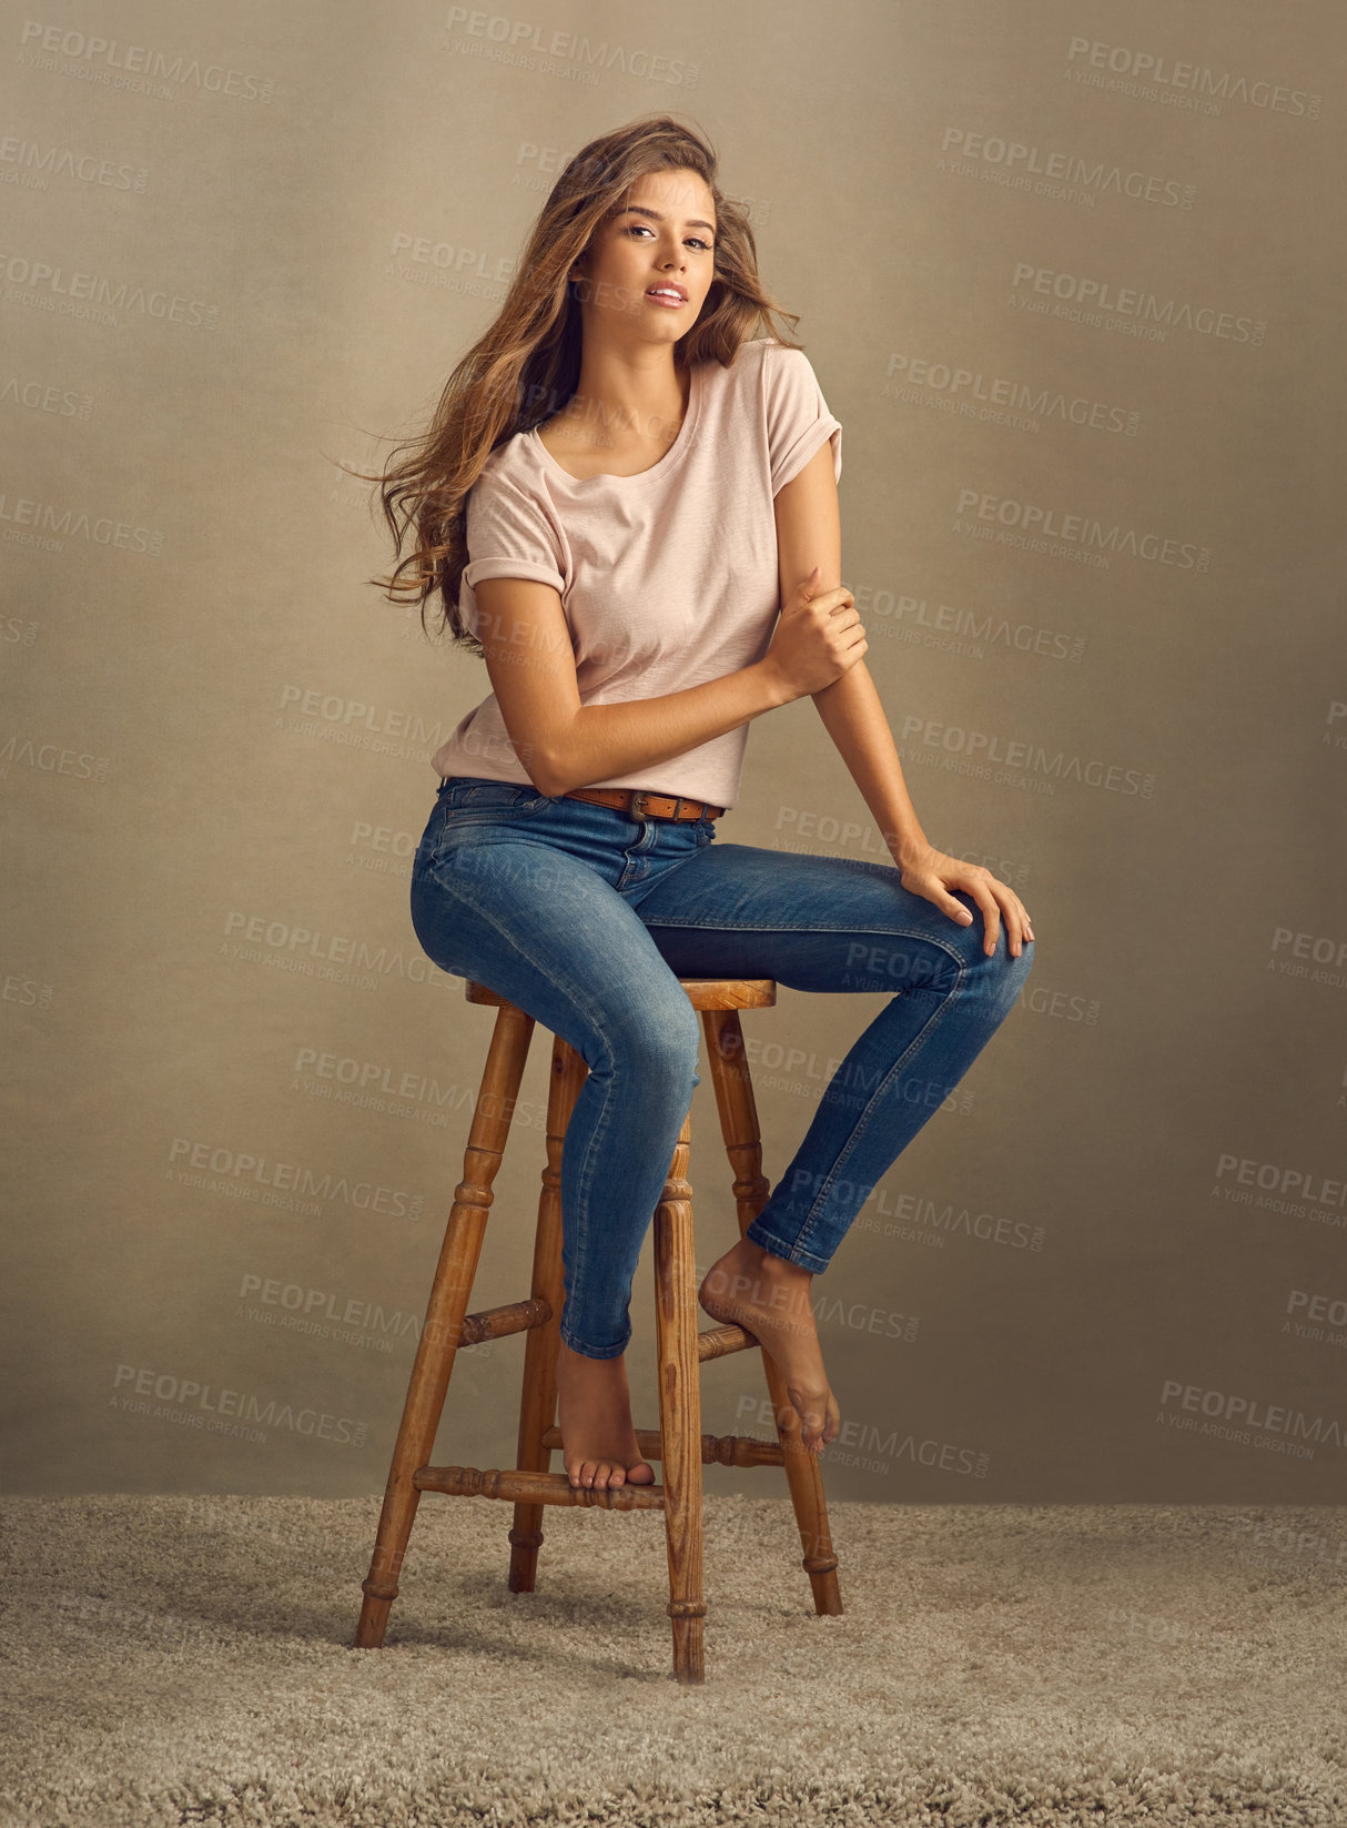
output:
[[[753,665],[780,612],[773,499],[843,428],[802,349],[746,342],[729,367],[700,362],[663,457],[638,475],[574,477],[537,431],[497,446],[468,495],[461,609],[479,632],[473,585],[536,578],[561,594],[581,704],[662,698]],[[749,724],[669,762],[587,786],[651,788],[733,806]],[[495,695],[435,751],[442,777],[528,786]]]

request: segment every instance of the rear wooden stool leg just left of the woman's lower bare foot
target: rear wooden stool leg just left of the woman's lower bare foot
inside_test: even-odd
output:
[[[557,1413],[557,1353],[561,1349],[561,1303],[565,1280],[561,1265],[561,1150],[567,1124],[585,1084],[589,1068],[581,1055],[559,1035],[552,1036],[552,1086],[546,1099],[546,1168],[537,1199],[534,1239],[534,1283],[530,1294],[552,1307],[545,1327],[532,1327],[525,1342],[525,1389],[519,1404],[519,1453],[523,1472],[552,1472],[552,1448],[543,1435]],[[543,1543],[543,1504],[517,1503],[510,1530],[510,1592],[530,1594],[537,1578],[537,1550]]]

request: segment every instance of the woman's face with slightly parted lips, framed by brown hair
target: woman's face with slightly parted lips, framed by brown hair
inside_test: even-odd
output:
[[[696,172],[638,177],[572,267],[585,336],[678,342],[711,291],[715,239],[715,205]],[[682,302],[651,296],[652,287],[682,292]]]

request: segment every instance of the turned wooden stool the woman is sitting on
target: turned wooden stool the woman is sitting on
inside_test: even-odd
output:
[[[753,1100],[740,1009],[777,1002],[773,978],[682,978],[695,1009],[702,1011],[711,1079],[720,1110],[720,1128],[735,1170],[740,1234],[748,1230],[768,1197],[762,1177],[762,1141]],[[397,1600],[398,1574],[422,1492],[450,1497],[501,1497],[514,1503],[510,1530],[510,1590],[532,1592],[537,1550],[543,1541],[545,1504],[598,1504],[603,1510],[663,1510],[669,1548],[669,1618],[673,1620],[674,1678],[704,1682],[702,1620],[702,1462],[720,1466],[784,1466],[795,1521],[804,1548],[802,1567],[813,1587],[817,1612],[843,1610],[837,1590],[837,1556],[828,1534],[819,1459],[801,1444],[801,1420],[786,1395],[780,1371],[762,1353],[768,1393],[779,1440],[748,1435],[702,1433],[700,1362],[729,1353],[760,1351],[742,1327],[696,1329],[691,1186],[684,1179],[691,1141],[691,1110],[674,1144],[673,1164],[654,1210],[654,1316],[660,1378],[660,1426],[638,1428],[636,1440],[647,1461],[663,1462],[663,1484],[621,1484],[596,1492],[574,1488],[565,1472],[550,1472],[552,1451],[561,1448],[556,1426],[556,1364],[561,1344],[561,1148],[570,1111],[589,1068],[559,1035],[552,1040],[552,1086],[546,1106],[546,1168],[537,1205],[534,1285],[526,1302],[468,1313],[477,1276],[486,1214],[492,1206],[510,1115],[534,1035],[534,1018],[483,983],[466,985],[470,1004],[497,1009],[483,1084],[473,1111],[462,1181],[444,1230],[426,1323],[411,1367],[384,1510],[378,1517],[375,1554],[364,1581],[364,1605],[355,1643],[375,1649],[384,1642],[387,1612]],[[477,1466],[428,1466],[444,1397],[461,1345],[528,1333],[525,1347],[523,1402],[519,1406],[519,1464],[508,1472]]]

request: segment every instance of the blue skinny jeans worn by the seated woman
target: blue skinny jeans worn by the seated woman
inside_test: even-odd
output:
[[[958,1086],[1029,972],[1005,929],[956,921],[896,865],[716,837],[715,821],[632,819],[532,786],[457,775],[411,866],[411,921],[442,971],[477,978],[581,1055],[561,1152],[561,1338],[589,1358],[631,1340],[642,1243],[698,1086],[700,1016],[680,978],[892,991],[833,1073],[748,1236],[826,1270],[879,1177]]]

